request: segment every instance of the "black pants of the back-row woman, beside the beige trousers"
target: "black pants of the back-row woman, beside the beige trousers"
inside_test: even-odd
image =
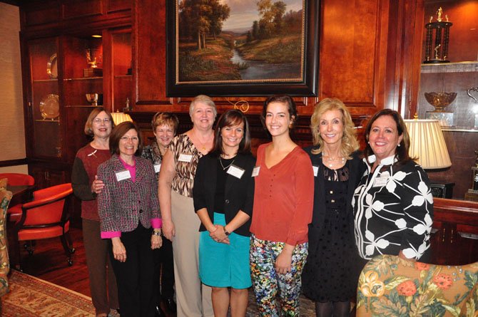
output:
[[[170,240],[163,237],[163,246],[155,250],[155,259],[154,280],[157,283],[157,305],[159,306],[161,298],[167,299],[174,295],[173,243]]]

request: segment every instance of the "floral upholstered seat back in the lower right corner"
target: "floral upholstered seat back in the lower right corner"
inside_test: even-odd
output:
[[[478,316],[478,262],[439,266],[382,255],[362,269],[357,316]]]

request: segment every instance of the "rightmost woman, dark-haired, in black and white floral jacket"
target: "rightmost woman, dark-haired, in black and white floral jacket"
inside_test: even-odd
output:
[[[390,109],[375,113],[365,140],[367,172],[352,202],[360,256],[426,261],[433,197],[427,173],[408,154],[410,137],[400,114]]]

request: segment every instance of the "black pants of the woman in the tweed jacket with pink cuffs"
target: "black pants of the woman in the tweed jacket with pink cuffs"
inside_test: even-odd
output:
[[[154,252],[151,249],[151,228],[141,224],[132,232],[122,232],[126,261],[114,259],[110,240],[110,257],[118,284],[121,317],[154,316],[155,285]]]

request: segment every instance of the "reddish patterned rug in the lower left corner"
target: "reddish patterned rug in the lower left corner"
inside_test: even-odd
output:
[[[13,270],[10,293],[1,298],[1,316],[95,316],[91,298]]]

